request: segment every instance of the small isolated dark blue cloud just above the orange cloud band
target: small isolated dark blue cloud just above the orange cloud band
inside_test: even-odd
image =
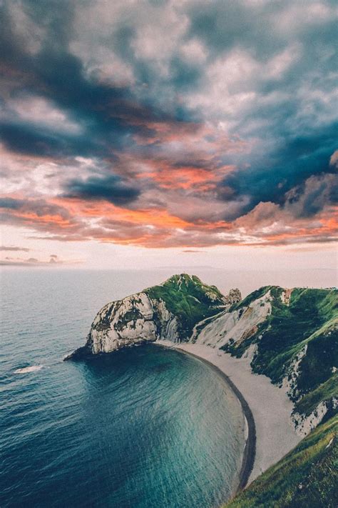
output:
[[[86,180],[74,179],[66,184],[65,190],[63,197],[89,201],[105,200],[121,206],[135,201],[140,195],[138,189],[115,175],[90,176]]]

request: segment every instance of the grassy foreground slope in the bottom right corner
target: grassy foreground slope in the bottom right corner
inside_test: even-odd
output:
[[[338,416],[319,425],[295,449],[237,495],[227,508],[338,506]]]

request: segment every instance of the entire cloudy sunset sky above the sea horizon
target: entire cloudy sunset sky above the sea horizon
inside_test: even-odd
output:
[[[1,1],[1,264],[337,268],[337,6]]]

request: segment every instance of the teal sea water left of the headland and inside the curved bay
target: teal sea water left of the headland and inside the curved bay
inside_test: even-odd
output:
[[[230,496],[242,414],[208,365],[152,344],[62,362],[103,304],[156,277],[2,273],[1,508],[208,508]]]

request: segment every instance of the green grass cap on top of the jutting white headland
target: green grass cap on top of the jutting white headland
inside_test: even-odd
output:
[[[220,312],[224,297],[215,286],[203,284],[198,277],[174,275],[161,286],[145,289],[151,299],[162,299],[178,317],[182,339],[188,339],[196,323]]]

